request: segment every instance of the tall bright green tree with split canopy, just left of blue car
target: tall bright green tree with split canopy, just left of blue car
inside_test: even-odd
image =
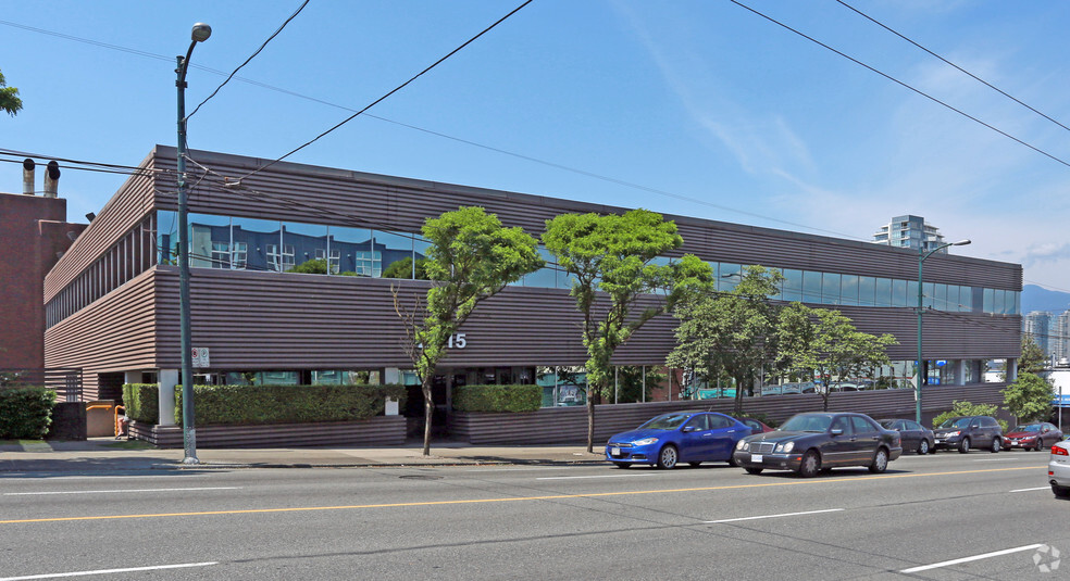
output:
[[[611,393],[613,353],[648,320],[709,285],[709,264],[694,255],[657,263],[683,241],[674,223],[647,210],[605,216],[562,214],[546,222],[543,243],[572,277],[571,294],[583,315],[588,452],[594,450],[593,395]]]

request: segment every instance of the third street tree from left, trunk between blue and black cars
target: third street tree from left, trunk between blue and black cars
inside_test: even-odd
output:
[[[769,298],[783,279],[779,270],[748,266],[731,291],[681,301],[673,311],[680,319],[676,346],[665,363],[690,369],[711,386],[722,372],[727,375],[736,384],[734,411],[742,414],[745,386],[752,386],[756,371],[772,363],[780,307]]]

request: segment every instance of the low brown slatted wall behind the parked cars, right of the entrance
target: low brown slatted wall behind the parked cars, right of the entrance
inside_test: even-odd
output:
[[[1003,405],[1005,383],[928,388],[922,403],[924,416],[931,418],[951,408],[953,401]],[[913,418],[913,390],[876,390],[832,393],[831,412],[858,412],[874,419]],[[644,421],[670,412],[702,409],[732,415],[731,399],[650,402],[595,406],[595,445],[601,446],[614,433],[637,428]],[[820,412],[820,394],[748,397],[745,414],[764,414],[782,422],[801,412]],[[550,428],[552,427],[552,428]],[[455,412],[449,432],[472,445],[586,444],[587,408],[548,407],[525,414],[476,414]]]

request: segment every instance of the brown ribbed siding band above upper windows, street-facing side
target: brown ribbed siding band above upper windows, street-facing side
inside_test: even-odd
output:
[[[155,166],[174,169],[174,149],[157,146]],[[195,151],[191,155],[221,175],[240,177],[264,160]],[[171,172],[161,174],[155,202],[174,209]],[[172,181],[165,181],[165,180]],[[190,212],[247,217],[307,219],[323,224],[362,224],[419,232],[428,216],[460,205],[481,205],[507,226],[542,235],[545,222],[567,212],[624,212],[617,206],[588,204],[498,190],[362,174],[301,164],[278,163],[242,184],[257,192],[223,189],[222,178],[210,176],[190,194]],[[657,204],[652,204],[657,210]],[[313,217],[314,216],[314,217]],[[679,253],[709,261],[763,264],[861,276],[917,280],[917,252],[868,242],[665,215],[676,222],[684,238]],[[925,261],[926,280],[948,285],[1021,290],[1021,266],[960,255],[933,255]]]

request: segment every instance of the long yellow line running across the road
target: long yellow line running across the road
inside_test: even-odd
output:
[[[94,517],[55,517],[55,518],[27,518],[18,520],[0,520],[0,525],[20,525],[27,522],[62,522],[71,520],[111,520],[121,518],[164,518],[164,517],[198,517],[210,515],[253,515],[262,513],[301,513],[312,510],[353,510],[358,508],[399,508],[412,506],[436,506],[451,504],[482,504],[482,503],[514,503],[530,501],[559,501],[564,498],[597,498],[605,496],[630,496],[638,494],[671,494],[677,492],[709,492],[716,490],[738,490],[758,489],[768,487],[799,487],[812,484],[831,484],[834,482],[858,482],[861,480],[892,479],[892,478],[924,478],[934,476],[958,476],[988,472],[1008,472],[1013,470],[1040,470],[1043,467],[1024,466],[1017,468],[988,468],[979,470],[961,470],[955,472],[930,472],[930,473],[909,473],[909,475],[876,475],[853,478],[823,478],[814,480],[795,480],[788,482],[766,482],[761,484],[734,484],[730,487],[701,487],[692,489],[667,489],[667,490],[636,490],[617,492],[595,492],[589,494],[552,494],[546,496],[517,496],[509,498],[472,498],[466,501],[425,501],[418,503],[389,503],[389,504],[353,504],[345,506],[301,506],[291,508],[248,508],[241,510],[203,510],[196,513],[159,513],[151,515],[102,515]]]

